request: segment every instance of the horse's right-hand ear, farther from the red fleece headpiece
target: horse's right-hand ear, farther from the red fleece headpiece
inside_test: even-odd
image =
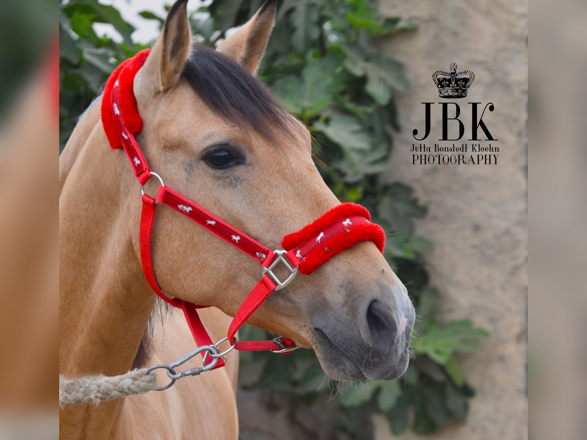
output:
[[[218,52],[224,53],[255,74],[275,24],[277,0],[266,0],[257,13],[225,39]]]

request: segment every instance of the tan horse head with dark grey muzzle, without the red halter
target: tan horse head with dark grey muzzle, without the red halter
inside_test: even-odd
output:
[[[279,249],[284,235],[340,202],[313,163],[309,131],[255,76],[276,2],[266,1],[217,50],[192,45],[186,4],[170,9],[134,79],[137,141],[168,186]],[[157,219],[153,256],[166,292],[231,316],[261,272],[171,209]],[[414,309],[377,247],[361,242],[274,292],[249,322],[312,347],[333,378],[392,379],[407,368]]]

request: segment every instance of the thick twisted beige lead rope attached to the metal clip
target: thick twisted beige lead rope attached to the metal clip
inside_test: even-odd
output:
[[[157,377],[147,368],[129,371],[119,376],[87,376],[66,379],[59,376],[59,406],[85,403],[99,404],[103,401],[143,394],[157,387]]]

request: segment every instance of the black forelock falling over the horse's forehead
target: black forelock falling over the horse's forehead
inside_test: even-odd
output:
[[[271,125],[289,132],[287,113],[265,84],[228,56],[194,45],[181,75],[218,116],[270,140]]]

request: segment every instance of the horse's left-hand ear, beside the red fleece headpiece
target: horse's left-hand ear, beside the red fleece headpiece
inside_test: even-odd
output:
[[[187,0],[177,0],[171,6],[163,32],[139,72],[139,84],[135,82],[139,89],[147,87],[149,92],[167,92],[179,82],[191,49],[191,29],[186,8]]]

